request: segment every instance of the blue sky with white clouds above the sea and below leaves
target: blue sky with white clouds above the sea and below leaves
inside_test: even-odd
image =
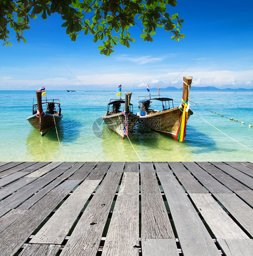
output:
[[[136,42],[114,47],[109,57],[90,35],[72,42],[59,15],[38,16],[24,32],[26,44],[11,34],[13,46],[0,48],[0,90],[180,88],[183,76],[193,76],[194,86],[253,88],[252,8],[252,0],[178,0],[168,12],[184,19],[184,39],[171,40],[161,28],[154,42],[143,42],[134,26]]]

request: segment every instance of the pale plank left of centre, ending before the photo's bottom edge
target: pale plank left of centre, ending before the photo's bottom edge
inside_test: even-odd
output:
[[[61,244],[100,181],[83,181],[32,238],[30,243]]]

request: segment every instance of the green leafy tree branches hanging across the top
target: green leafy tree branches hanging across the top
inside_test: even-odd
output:
[[[184,20],[167,12],[169,5],[176,4],[176,0],[1,0],[0,39],[4,45],[12,45],[9,29],[13,29],[16,40],[26,42],[23,32],[30,29],[30,19],[41,15],[45,20],[51,13],[58,13],[64,21],[61,27],[66,27],[72,41],[82,31],[85,35],[90,33],[94,35],[93,42],[103,41],[98,47],[100,53],[109,56],[114,45],[120,43],[129,48],[129,42],[135,41],[128,32],[131,26],[139,27],[143,41],[152,42],[157,27],[172,33],[171,39],[184,38],[177,28],[182,28]]]

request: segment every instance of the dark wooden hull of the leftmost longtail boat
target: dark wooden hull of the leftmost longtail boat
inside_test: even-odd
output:
[[[31,115],[26,120],[29,121],[29,123],[41,133],[41,136],[45,136],[47,132],[55,128],[60,121],[61,121],[62,115],[51,115],[48,113],[45,113],[44,117],[39,118],[36,115]],[[41,119],[41,131],[40,131],[40,119]]]

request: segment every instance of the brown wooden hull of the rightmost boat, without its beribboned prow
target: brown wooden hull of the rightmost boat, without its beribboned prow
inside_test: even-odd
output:
[[[192,114],[192,110],[189,109],[187,120]],[[179,108],[172,108],[146,116],[140,116],[137,113],[137,116],[139,121],[147,127],[147,130],[165,134],[178,141],[176,135],[182,119],[182,111]]]

